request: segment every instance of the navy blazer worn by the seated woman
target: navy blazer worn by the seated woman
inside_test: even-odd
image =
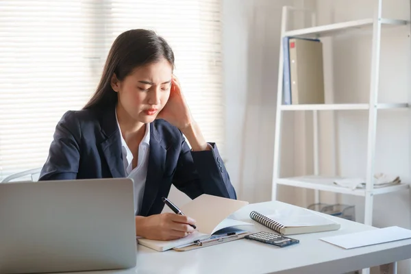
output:
[[[191,151],[182,132],[158,119],[150,124],[147,179],[139,215],[159,214],[174,184],[191,199],[206,193],[236,199],[219,150]],[[39,180],[125,177],[115,107],[68,111],[55,128]]]

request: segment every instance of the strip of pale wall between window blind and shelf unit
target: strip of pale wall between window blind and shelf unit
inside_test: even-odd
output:
[[[292,3],[223,0],[225,164],[239,199],[251,203],[271,199],[281,12]]]

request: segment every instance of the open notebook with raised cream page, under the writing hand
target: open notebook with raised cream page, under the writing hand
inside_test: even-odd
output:
[[[146,238],[138,238],[138,243],[157,251],[166,251],[174,247],[187,245],[195,240],[210,238],[212,234],[223,228],[238,225],[252,225],[252,223],[227,219],[229,215],[247,204],[247,201],[203,194],[180,208],[186,216],[195,219],[197,229],[194,233],[177,240],[149,240]]]

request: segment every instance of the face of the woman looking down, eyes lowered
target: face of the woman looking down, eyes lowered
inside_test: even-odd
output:
[[[172,75],[171,64],[162,59],[134,69],[121,82],[113,77],[119,108],[135,121],[151,123],[169,100]]]

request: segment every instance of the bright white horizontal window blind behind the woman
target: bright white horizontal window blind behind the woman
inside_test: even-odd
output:
[[[112,42],[153,29],[208,141],[224,151],[218,0],[0,1],[0,181],[47,159],[55,125],[92,95]]]

